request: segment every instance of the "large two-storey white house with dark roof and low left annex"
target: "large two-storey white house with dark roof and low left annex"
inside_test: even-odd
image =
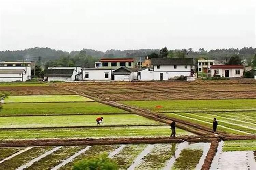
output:
[[[191,76],[192,58],[153,58],[153,69],[139,71],[140,80],[169,80],[170,78]]]

